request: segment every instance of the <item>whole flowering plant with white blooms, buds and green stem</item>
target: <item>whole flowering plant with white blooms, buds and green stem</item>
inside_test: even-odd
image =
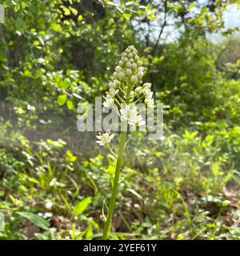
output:
[[[146,124],[143,120],[140,110],[137,108],[137,102],[145,102],[147,107],[154,107],[153,92],[151,84],[144,83],[142,86],[139,83],[144,75],[144,67],[138,56],[138,51],[134,46],[128,46],[122,54],[121,60],[118,62],[114,71],[114,81],[109,83],[109,91],[106,92],[105,102],[103,106],[113,107],[121,117],[124,123],[129,126],[143,126]],[[114,104],[116,102],[116,104]],[[122,166],[122,155],[124,153],[127,141],[127,130],[121,132],[118,154],[114,153],[113,147],[109,143],[114,138],[114,134],[106,132],[97,136],[97,143],[101,146],[106,145],[110,152],[118,158],[113,193],[110,198],[108,212],[104,223],[102,239],[108,239],[110,234],[110,226],[114,211],[115,201],[118,194],[118,183],[120,170]]]

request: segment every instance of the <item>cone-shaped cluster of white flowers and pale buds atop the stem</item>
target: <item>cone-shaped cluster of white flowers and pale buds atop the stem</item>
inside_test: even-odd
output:
[[[115,68],[114,81],[109,83],[110,89],[106,92],[103,102],[103,106],[106,108],[113,107],[114,102],[118,103],[118,106],[125,103],[126,106],[120,110],[120,114],[122,120],[126,120],[130,125],[142,126],[145,124],[139,110],[132,104],[135,98],[137,98],[137,102],[143,98],[147,107],[154,108],[151,83],[145,82],[142,86],[137,86],[141,82],[143,74],[144,67],[138,56],[138,51],[134,46],[127,47]],[[135,86],[137,87],[134,88]]]

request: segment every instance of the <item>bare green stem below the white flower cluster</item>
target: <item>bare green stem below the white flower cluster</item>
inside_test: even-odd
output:
[[[115,177],[114,177],[114,187],[113,192],[110,198],[110,204],[108,208],[108,212],[106,215],[106,222],[104,223],[104,229],[102,234],[102,239],[107,240],[110,234],[110,228],[111,228],[111,220],[112,220],[112,214],[114,212],[114,206],[118,194],[118,183],[119,183],[119,176],[120,176],[120,168],[122,166],[122,155],[124,152],[124,145],[126,142],[126,131],[122,131],[121,139],[120,139],[120,148],[118,153],[118,160],[115,170]]]

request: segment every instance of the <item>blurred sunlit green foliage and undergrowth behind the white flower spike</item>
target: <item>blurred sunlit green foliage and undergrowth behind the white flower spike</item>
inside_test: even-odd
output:
[[[4,1],[1,239],[101,237],[115,162],[78,133],[76,109],[103,94],[131,44],[165,134],[130,141],[111,238],[240,238],[240,39],[222,18],[234,3]]]

